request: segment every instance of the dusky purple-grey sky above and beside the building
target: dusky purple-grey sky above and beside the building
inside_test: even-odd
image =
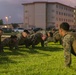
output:
[[[5,17],[9,17],[8,23],[23,22],[23,5],[22,3],[33,1],[52,1],[60,2],[74,7],[76,0],[0,0],[0,19],[6,23]],[[11,16],[11,17],[10,17]]]

